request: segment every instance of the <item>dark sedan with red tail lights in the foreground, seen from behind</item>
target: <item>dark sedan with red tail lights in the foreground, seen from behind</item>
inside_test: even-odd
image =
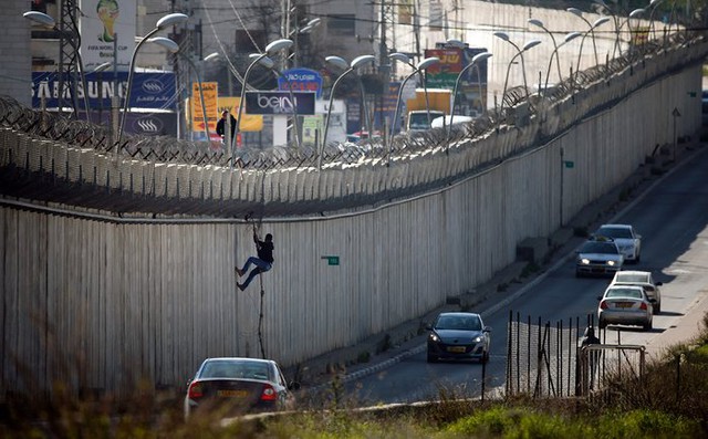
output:
[[[207,358],[188,384],[185,419],[202,409],[233,416],[293,408],[291,390],[299,387],[288,384],[271,359]]]

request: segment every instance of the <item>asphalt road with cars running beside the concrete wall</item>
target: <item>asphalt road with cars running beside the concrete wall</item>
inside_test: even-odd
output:
[[[629,269],[650,270],[664,283],[663,311],[654,330],[610,326],[606,343],[650,346],[673,327],[697,300],[708,295],[708,153],[704,149],[657,180],[642,197],[608,222],[632,223],[643,236],[642,262]],[[532,321],[555,322],[582,317],[596,311],[597,296],[607,279],[576,279],[572,258],[559,262],[507,306],[493,312],[476,310],[492,326],[491,359],[487,388],[506,380],[507,323],[510,311]],[[477,363],[426,362],[416,351],[392,367],[344,385],[341,398],[347,406],[413,403],[479,395],[482,366]]]

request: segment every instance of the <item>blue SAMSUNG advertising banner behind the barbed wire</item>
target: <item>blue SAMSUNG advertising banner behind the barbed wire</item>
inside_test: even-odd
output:
[[[123,107],[127,84],[127,72],[118,72],[115,81],[113,72],[86,74],[88,106],[94,109],[111,108],[111,101],[117,92],[119,106]],[[83,109],[84,90],[81,81],[77,83],[76,92],[79,106]],[[42,98],[44,98],[44,105],[48,108],[55,108],[59,104],[58,97],[59,74],[56,72],[32,72],[32,106],[39,108],[42,105]],[[175,74],[173,72],[133,74],[131,108],[176,109],[176,97]],[[71,102],[69,88],[65,90],[63,98],[65,105]]]

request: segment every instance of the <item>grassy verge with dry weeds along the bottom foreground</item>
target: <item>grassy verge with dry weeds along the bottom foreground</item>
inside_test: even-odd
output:
[[[696,339],[647,363],[642,380],[612,380],[610,397],[507,400],[464,399],[441,389],[440,400],[343,409],[344,388],[330,389],[329,409],[222,422],[218,412],[181,418],[178,397],[148,386],[131,400],[76,399],[58,386],[51,403],[13,400],[0,412],[3,438],[697,438],[708,437],[708,315]]]

